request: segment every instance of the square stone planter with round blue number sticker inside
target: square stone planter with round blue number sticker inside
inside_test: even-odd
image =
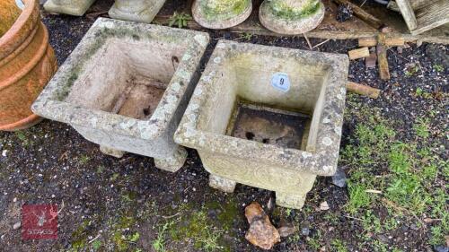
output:
[[[209,185],[276,191],[300,209],[337,169],[348,56],[219,41],[175,133]]]

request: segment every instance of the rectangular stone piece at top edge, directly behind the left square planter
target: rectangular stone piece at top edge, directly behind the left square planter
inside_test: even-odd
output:
[[[149,23],[161,10],[163,3],[165,0],[116,0],[109,15],[114,19]]]

